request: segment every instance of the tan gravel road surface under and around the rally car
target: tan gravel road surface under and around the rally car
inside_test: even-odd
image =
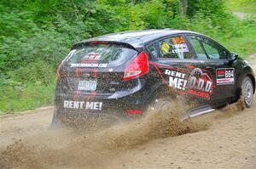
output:
[[[256,72],[255,56],[252,63]],[[254,169],[255,100],[252,109],[233,104],[186,124],[164,119],[165,132],[158,117],[85,133],[49,131],[53,107],[3,115],[0,168]]]

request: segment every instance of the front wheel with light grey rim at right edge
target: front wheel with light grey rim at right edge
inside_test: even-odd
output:
[[[246,107],[251,108],[253,104],[253,82],[248,76],[241,83],[241,95]]]

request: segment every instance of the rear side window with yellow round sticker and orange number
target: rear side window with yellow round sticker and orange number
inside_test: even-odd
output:
[[[191,59],[188,43],[183,36],[168,37],[158,42],[160,59]]]

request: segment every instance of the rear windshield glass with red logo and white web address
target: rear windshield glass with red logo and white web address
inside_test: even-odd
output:
[[[119,44],[88,44],[82,48],[73,49],[67,59],[67,64],[96,63],[108,66],[122,65],[137,51]]]

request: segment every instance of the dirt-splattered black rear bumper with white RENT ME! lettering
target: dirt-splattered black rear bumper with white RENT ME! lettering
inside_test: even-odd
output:
[[[61,121],[123,121],[143,116],[130,115],[126,110],[147,110],[149,99],[140,91],[119,99],[99,98],[91,95],[56,94],[55,117]]]

